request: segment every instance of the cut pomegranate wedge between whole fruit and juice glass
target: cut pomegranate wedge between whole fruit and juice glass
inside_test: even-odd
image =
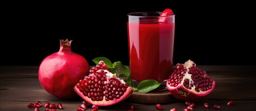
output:
[[[103,61],[90,69],[90,74],[74,87],[76,93],[92,105],[107,106],[127,99],[132,93],[131,87],[112,74]]]

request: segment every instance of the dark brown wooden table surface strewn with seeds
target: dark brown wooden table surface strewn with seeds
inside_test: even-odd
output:
[[[216,81],[214,91],[207,98],[195,103],[193,111],[215,111],[213,105],[220,105],[221,111],[256,111],[256,66],[198,66]],[[77,111],[83,99],[62,100],[47,93],[38,80],[38,66],[0,66],[0,111],[34,111],[27,107],[36,100],[45,104],[62,103],[64,109]],[[227,106],[229,100],[233,106]],[[210,109],[204,108],[204,103]],[[128,111],[132,103],[124,101],[117,105],[99,107],[99,111]],[[184,102],[162,104],[162,111],[176,108],[183,111]],[[86,111],[90,111],[88,107]],[[44,107],[40,111],[45,111]],[[134,111],[157,111],[155,104],[135,104]]]

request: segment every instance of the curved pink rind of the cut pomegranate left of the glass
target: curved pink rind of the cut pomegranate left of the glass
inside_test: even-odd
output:
[[[81,98],[83,98],[83,100],[85,100],[86,102],[88,102],[92,105],[97,105],[97,106],[108,106],[108,105],[114,105],[114,104],[120,103],[120,102],[124,101],[125,99],[129,98],[131,96],[131,94],[133,93],[133,90],[131,89],[131,87],[128,87],[127,91],[119,99],[106,101],[105,97],[104,97],[104,99],[102,101],[92,101],[90,98],[85,97],[83,95],[83,93],[80,92],[76,86],[74,87],[74,90]]]

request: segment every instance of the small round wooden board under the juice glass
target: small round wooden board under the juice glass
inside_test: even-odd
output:
[[[155,91],[149,93],[133,92],[127,101],[140,104],[163,104],[176,101],[169,91]]]

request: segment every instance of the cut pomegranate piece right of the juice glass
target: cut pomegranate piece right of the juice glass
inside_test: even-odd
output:
[[[204,99],[214,86],[215,81],[191,60],[178,63],[166,82],[166,87],[176,99],[188,102]]]

